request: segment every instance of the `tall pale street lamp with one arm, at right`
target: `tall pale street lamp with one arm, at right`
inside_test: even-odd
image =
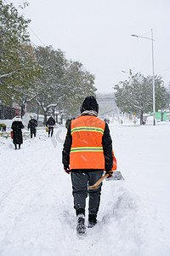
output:
[[[151,40],[151,49],[152,49],[152,84],[153,84],[153,125],[156,125],[156,90],[155,90],[155,75],[154,75],[154,39],[153,39],[153,29],[151,29],[151,38],[141,37],[138,35],[131,35],[135,38],[144,38]]]

